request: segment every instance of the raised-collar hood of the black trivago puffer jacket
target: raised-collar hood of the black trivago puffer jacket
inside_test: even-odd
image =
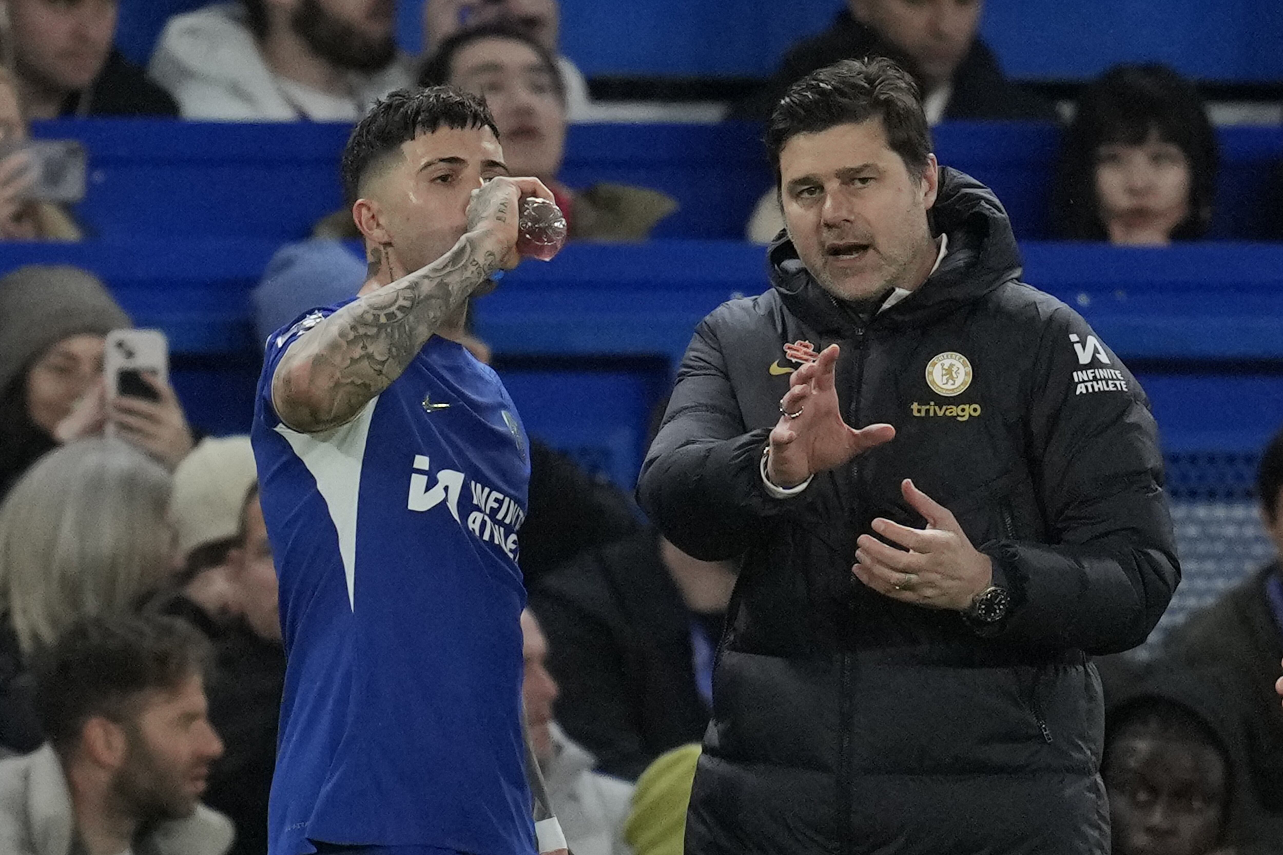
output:
[[[879,323],[926,323],[1020,277],[1020,250],[1007,212],[975,178],[940,167],[939,192],[928,217],[933,235],[948,235],[944,260],[920,288],[879,313]],[[790,311],[825,332],[849,326],[842,301],[803,267],[785,232],[767,249],[766,259],[771,285]]]

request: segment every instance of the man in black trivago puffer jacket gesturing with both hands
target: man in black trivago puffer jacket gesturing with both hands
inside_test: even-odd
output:
[[[686,852],[1105,855],[1091,656],[1180,578],[1148,400],[897,65],[804,77],[766,140],[774,287],[699,324],[638,485],[742,558]]]

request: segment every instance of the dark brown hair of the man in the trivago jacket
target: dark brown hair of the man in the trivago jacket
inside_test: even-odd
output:
[[[931,132],[917,83],[889,59],[844,59],[790,86],[766,124],[766,147],[780,183],[780,151],[798,133],[819,133],[839,124],[880,118],[887,142],[920,177],[931,154]]]

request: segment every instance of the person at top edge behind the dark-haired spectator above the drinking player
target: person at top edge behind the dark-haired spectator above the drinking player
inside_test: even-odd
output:
[[[557,71],[565,87],[566,115],[571,122],[591,120],[591,101],[584,73],[568,58],[557,53],[561,9],[557,0],[426,0],[423,4],[423,44],[435,54],[446,38],[471,27],[506,24],[539,42],[557,58]]]

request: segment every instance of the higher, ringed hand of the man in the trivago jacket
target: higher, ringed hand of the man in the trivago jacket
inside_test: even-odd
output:
[[[896,436],[889,424],[856,429],[842,418],[835,370],[838,345],[802,365],[780,399],[780,420],[771,429],[766,477],[777,487],[795,487],[817,472],[840,467]]]

